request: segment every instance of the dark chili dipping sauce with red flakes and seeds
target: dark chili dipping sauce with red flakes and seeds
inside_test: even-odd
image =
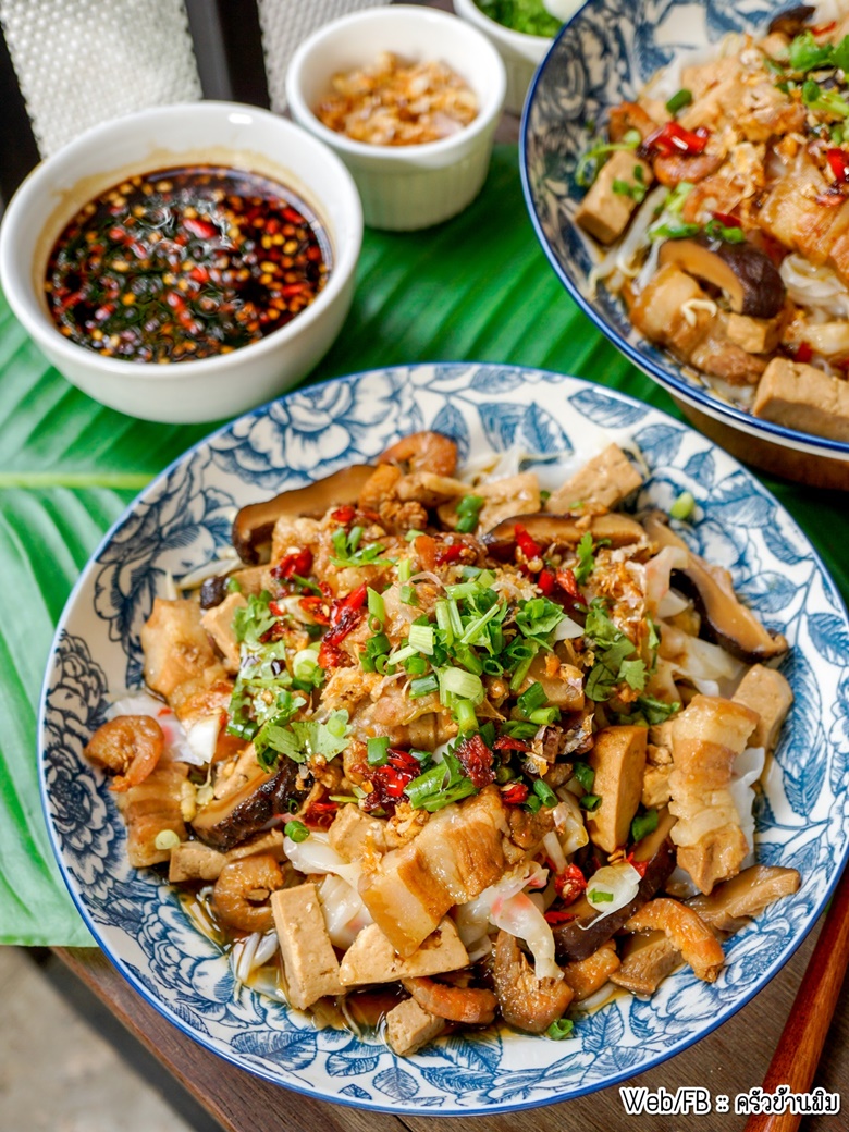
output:
[[[175,362],[285,326],[329,268],[327,235],[291,190],[198,165],[132,177],[82,208],[53,247],[44,289],[79,345]]]

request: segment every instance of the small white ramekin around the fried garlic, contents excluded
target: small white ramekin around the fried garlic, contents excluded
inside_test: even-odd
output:
[[[368,145],[328,129],[312,108],[331,92],[333,76],[368,67],[383,51],[446,63],[474,91],[478,115],[451,137],[423,145]],[[438,224],[474,199],[489,169],[505,88],[501,57],[484,35],[455,16],[404,5],[368,8],[325,25],[300,45],[286,75],[294,120],[348,165],[366,223],[394,231]]]

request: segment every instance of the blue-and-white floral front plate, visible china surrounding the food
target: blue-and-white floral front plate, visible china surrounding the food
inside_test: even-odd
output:
[[[316,1030],[308,1018],[237,988],[174,892],[127,864],[123,823],[82,756],[110,692],[139,681],[139,628],[166,573],[207,561],[235,506],[374,458],[396,437],[434,428],[464,457],[521,445],[573,466],[610,439],[649,472],[638,505],[692,491],[685,537],[727,566],[739,592],[791,652],[796,694],[765,777],[757,855],[798,868],[799,892],[726,947],[713,985],[688,971],[650,1001],[620,997],[575,1038],[453,1035],[409,1060],[377,1039]],[[273,402],[188,452],[129,507],[84,571],[57,633],[42,704],[43,800],[65,880],[122,975],[186,1034],[252,1073],[312,1096],[422,1114],[549,1104],[641,1073],[709,1034],[781,968],[825,903],[849,839],[849,626],[833,583],[775,499],[704,437],[646,405],[540,370],[472,363],[396,367]]]

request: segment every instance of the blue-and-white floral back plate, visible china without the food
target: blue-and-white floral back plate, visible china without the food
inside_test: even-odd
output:
[[[680,401],[743,432],[813,455],[849,461],[849,443],[753,417],[713,393],[695,371],[652,345],[624,305],[599,284],[589,297],[595,247],[575,224],[584,196],[575,166],[607,111],[633,101],[661,68],[691,52],[710,58],[729,32],[763,34],[790,0],[589,0],[564,26],[525,102],[522,187],[537,237],[557,277],[585,315],[635,366]],[[831,16],[827,17],[829,19]]]

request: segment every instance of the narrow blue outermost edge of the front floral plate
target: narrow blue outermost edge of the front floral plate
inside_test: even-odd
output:
[[[151,479],[151,482],[147,483],[139,492],[136,494],[136,496],[130,500],[130,503],[127,505],[123,512],[110,525],[109,530],[105,532],[105,534],[101,539],[95,550],[93,550],[92,554],[89,555],[85,566],[80,571],[77,582],[75,583],[71,592],[68,595],[68,599],[65,603],[60,618],[57,623],[55,632],[53,634],[53,640],[51,642],[50,651],[46,659],[46,667],[45,667],[44,679],[42,683],[41,695],[38,698],[38,715],[37,715],[37,730],[36,730],[36,744],[37,744],[36,770],[38,774],[38,790],[40,790],[42,813],[48,830],[50,846],[53,856],[57,860],[60,875],[71,897],[71,900],[78,914],[80,915],[84,924],[86,925],[89,933],[94,937],[97,946],[105,954],[112,967],[115,968],[115,970],[121,975],[121,977],[126,981],[128,981],[130,986],[132,986],[132,988],[138,994],[140,994],[143,1000],[153,1009],[155,1009],[160,1015],[165,1018],[166,1021],[175,1026],[182,1034],[185,1034],[192,1040],[197,1041],[208,1052],[215,1054],[218,1057],[222,1057],[230,1064],[235,1065],[237,1067],[245,1070],[255,1077],[260,1078],[261,1080],[268,1081],[272,1084],[276,1084],[285,1089],[290,1089],[293,1092],[312,1097],[314,1099],[319,1099],[327,1101],[329,1104],[337,1104],[350,1108],[358,1108],[362,1110],[380,1112],[380,1113],[396,1113],[397,1104],[395,1105],[388,1103],[381,1104],[379,1101],[371,1099],[363,1100],[360,1098],[350,1098],[346,1096],[340,1096],[338,1094],[334,1096],[327,1096],[324,1092],[319,1092],[318,1088],[316,1087],[310,1088],[307,1084],[302,1084],[297,1080],[293,1081],[282,1080],[280,1075],[272,1072],[272,1070],[266,1069],[264,1065],[254,1064],[251,1062],[243,1060],[237,1053],[233,1053],[230,1047],[218,1048],[218,1046],[215,1044],[215,1039],[212,1036],[198,1032],[189,1023],[185,1022],[183,1019],[181,1019],[179,1014],[177,1014],[166,1002],[156,997],[149,990],[149,988],[145,986],[142,979],[134,972],[128,961],[121,959],[118,954],[113,953],[112,946],[108,940],[109,925],[102,927],[101,925],[96,924],[94,917],[88,911],[86,904],[83,902],[82,890],[78,893],[76,881],[74,881],[72,877],[70,876],[69,868],[66,864],[65,855],[62,854],[59,844],[58,833],[57,830],[54,829],[51,818],[44,756],[45,756],[48,694],[50,691],[50,678],[52,675],[52,667],[53,667],[52,662],[62,637],[67,634],[67,623],[75,610],[77,600],[79,599],[80,591],[86,585],[92,567],[96,563],[96,559],[101,555],[101,551],[112,541],[114,534],[134,515],[136,508],[142,501],[144,501],[148,492],[157,490],[162,481],[165,480],[173,470],[175,470],[179,465],[183,464],[185,462],[189,462],[200,449],[212,445],[218,437],[234,429],[235,426],[238,426],[240,422],[251,417],[256,417],[257,419],[267,417],[272,406],[281,403],[284,404],[286,401],[302,395],[310,388],[319,388],[319,387],[335,386],[335,385],[355,385],[366,378],[386,374],[403,374],[404,377],[409,379],[411,372],[413,372],[417,369],[436,368],[440,370],[452,369],[457,371],[460,370],[472,371],[480,368],[494,368],[494,367],[503,370],[518,371],[521,374],[539,374],[542,375],[544,378],[554,379],[555,381],[576,383],[578,386],[589,391],[603,389],[606,395],[609,395],[621,403],[632,406],[638,406],[642,410],[646,410],[650,414],[657,414],[657,417],[662,418],[664,421],[674,424],[677,429],[683,430],[685,434],[695,435],[701,441],[707,445],[709,451],[715,449],[720,452],[723,457],[730,461],[735,472],[743,472],[747,479],[753,480],[757,484],[760,490],[778,507],[779,512],[787,520],[789,520],[791,528],[801,535],[801,539],[804,540],[805,546],[809,551],[809,555],[813,559],[815,567],[817,568],[820,576],[822,577],[823,582],[826,583],[826,589],[831,592],[831,594],[837,601],[835,608],[838,614],[842,615],[843,620],[847,624],[849,624],[849,608],[847,607],[847,603],[843,600],[843,597],[839,588],[834,583],[834,580],[832,578],[829,569],[823,563],[817,549],[811,542],[804,530],[796,522],[795,517],[787,511],[787,508],[783,507],[781,501],[777,499],[777,497],[773,496],[770,489],[765,487],[753,472],[751,472],[744,464],[741,464],[740,461],[738,461],[730,453],[727,453],[720,445],[715,444],[715,441],[704,436],[704,434],[701,434],[692,424],[679,421],[676,418],[671,417],[669,413],[664,412],[663,410],[657,409],[654,405],[640,401],[637,397],[634,397],[628,393],[624,393],[619,389],[610,388],[607,386],[601,386],[599,383],[591,381],[586,378],[576,377],[569,374],[561,374],[556,370],[542,369],[535,366],[522,366],[512,362],[499,363],[499,362],[477,361],[477,360],[475,361],[441,361],[441,360],[414,361],[414,362],[395,363],[379,368],[359,370],[352,374],[340,375],[326,381],[316,383],[307,386],[300,386],[295,389],[291,389],[284,393],[278,397],[272,398],[265,404],[259,405],[258,408],[252,409],[249,412],[243,413],[239,417],[235,417],[232,420],[228,421],[226,423],[214,429],[207,436],[197,440],[194,445],[187,448],[181,455],[171,461],[171,463],[166,468],[164,468],[160,473],[154,475]],[[609,431],[608,428],[604,428],[604,430]],[[803,931],[799,932],[798,935],[792,938],[789,946],[784,951],[782,951],[764,971],[761,972],[761,975],[757,978],[757,981],[753,984],[753,986],[751,986],[739,1000],[735,1000],[735,1002],[728,1006],[720,1007],[718,1015],[706,1026],[700,1028],[697,1034],[688,1035],[681,1038],[680,1040],[674,1041],[669,1048],[661,1050],[659,1054],[646,1061],[644,1064],[637,1067],[626,1067],[621,1071],[617,1071],[616,1073],[611,1074],[603,1081],[595,1081],[595,1082],[589,1082],[586,1084],[576,1086],[574,1089],[569,1090],[568,1095],[564,1096],[543,1096],[532,1099],[524,1099],[515,1103],[495,1101],[484,1107],[480,1107],[480,1106],[461,1105],[457,1103],[456,1097],[453,1097],[447,1092],[443,1092],[443,1096],[446,1098],[447,1104],[440,1108],[437,1108],[436,1106],[431,1107],[428,1105],[417,1104],[415,1103],[417,1098],[412,1097],[409,1100],[404,1101],[404,1110],[411,1116],[440,1116],[440,1117],[487,1116],[495,1114],[508,1114],[508,1113],[515,1113],[515,1112],[560,1104],[565,1100],[576,1099],[577,1097],[588,1096],[592,1092],[616,1088],[623,1082],[632,1080],[633,1078],[642,1073],[645,1073],[649,1070],[655,1069],[657,1066],[675,1057],[677,1054],[688,1049],[697,1041],[701,1041],[703,1038],[706,1038],[709,1035],[713,1034],[720,1026],[722,1026],[735,1014],[737,1014],[744,1006],[746,1006],[752,1001],[752,998],[755,997],[756,994],[758,994],[769,983],[772,981],[772,979],[781,971],[781,969],[792,959],[798,949],[807,938],[813,927],[818,923],[823,909],[831,900],[834,889],[837,887],[838,882],[840,881],[840,877],[842,876],[843,871],[847,868],[848,865],[849,865],[849,834],[847,834],[846,837],[843,851],[837,864],[834,874],[829,880],[825,889],[823,890],[822,897],[815,903],[809,916],[809,921],[803,928]],[[522,1037],[529,1037],[529,1036],[522,1035]],[[281,1072],[285,1073],[288,1071],[284,1070]],[[340,1078],[340,1081],[344,1081],[344,1078]]]

